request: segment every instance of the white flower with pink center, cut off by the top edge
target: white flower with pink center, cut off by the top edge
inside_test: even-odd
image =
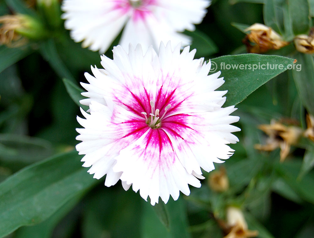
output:
[[[90,50],[106,52],[123,27],[119,45],[125,50],[129,43],[157,50],[161,41],[190,45],[190,37],[178,32],[194,31],[209,4],[209,0],[64,0],[62,18],[72,39],[83,41]]]

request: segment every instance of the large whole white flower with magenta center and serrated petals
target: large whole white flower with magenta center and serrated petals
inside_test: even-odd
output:
[[[220,72],[208,75],[210,62],[180,48],[161,43],[158,54],[150,47],[143,56],[140,45],[129,53],[116,46],[113,60],[101,56],[104,69],[92,67],[89,84],[81,83],[90,112],[78,117],[83,166],[94,178],[106,175],[108,187],[119,179],[126,190],[132,185],[152,205],[200,187],[201,168],[213,170],[233,154],[226,144],[238,141],[230,124],[239,117],[229,115],[236,109],[222,108],[226,91],[214,91],[224,83]]]

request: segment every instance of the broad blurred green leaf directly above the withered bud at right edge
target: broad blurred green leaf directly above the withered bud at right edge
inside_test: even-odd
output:
[[[307,34],[310,29],[310,6],[308,0],[288,0],[288,9],[295,35]]]

